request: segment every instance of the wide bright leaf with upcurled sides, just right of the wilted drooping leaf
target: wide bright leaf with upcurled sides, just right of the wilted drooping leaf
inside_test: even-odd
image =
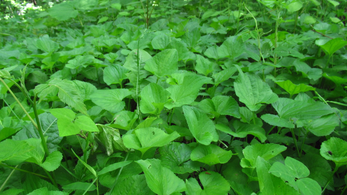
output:
[[[166,134],[155,127],[134,130],[135,134],[126,134],[122,137],[125,147],[142,152],[142,155],[152,147],[160,147],[179,137],[177,132]]]

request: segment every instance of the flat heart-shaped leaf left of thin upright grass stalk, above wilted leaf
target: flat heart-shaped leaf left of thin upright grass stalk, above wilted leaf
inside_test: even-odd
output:
[[[97,90],[90,95],[90,98],[101,108],[117,113],[125,106],[122,100],[130,94],[132,93],[128,89]]]

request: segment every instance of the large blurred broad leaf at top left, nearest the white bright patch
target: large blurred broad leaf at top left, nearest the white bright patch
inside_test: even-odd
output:
[[[64,21],[70,18],[75,18],[78,14],[78,11],[74,9],[73,3],[64,1],[62,3],[55,4],[52,6],[48,13],[53,18],[57,20]]]

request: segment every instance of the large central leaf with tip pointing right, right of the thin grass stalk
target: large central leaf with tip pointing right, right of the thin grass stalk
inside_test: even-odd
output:
[[[179,81],[179,84],[167,88],[173,101],[165,104],[168,109],[192,103],[196,99],[201,86],[205,83],[211,83],[211,78],[208,77],[195,74],[180,75],[183,76],[183,79]]]

